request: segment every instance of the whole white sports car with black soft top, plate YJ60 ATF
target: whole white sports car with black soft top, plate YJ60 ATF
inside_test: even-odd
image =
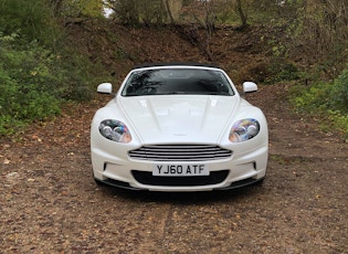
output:
[[[113,94],[110,83],[98,93]],[[243,93],[257,91],[245,82]],[[91,126],[97,183],[150,191],[210,191],[261,182],[268,130],[224,71],[202,64],[130,71]]]

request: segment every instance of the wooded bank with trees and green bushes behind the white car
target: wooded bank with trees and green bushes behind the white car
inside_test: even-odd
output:
[[[83,50],[81,42],[88,40],[76,27],[98,38],[101,47]],[[214,62],[236,83],[291,83],[295,110],[347,137],[346,0],[0,0],[0,135],[21,134],[29,124],[61,114],[67,103],[89,102],[98,83],[119,84],[133,65],[172,61],[143,57],[120,43],[130,33],[154,30],[189,41],[203,57],[192,61]],[[212,45],[218,40],[228,45],[217,32],[231,30],[234,40],[256,30],[264,59],[241,72],[218,57]],[[252,54],[254,41],[245,42],[240,50]],[[106,53],[104,45],[113,50]]]

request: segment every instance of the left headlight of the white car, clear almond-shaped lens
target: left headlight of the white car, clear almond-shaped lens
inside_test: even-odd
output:
[[[127,126],[119,120],[103,120],[99,125],[103,137],[116,142],[130,142],[131,136]]]

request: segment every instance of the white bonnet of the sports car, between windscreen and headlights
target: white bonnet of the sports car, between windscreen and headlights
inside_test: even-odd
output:
[[[120,97],[118,105],[141,142],[217,144],[229,128],[239,96]]]

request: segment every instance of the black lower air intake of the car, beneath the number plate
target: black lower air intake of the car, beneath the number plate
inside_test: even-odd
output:
[[[134,178],[141,184],[164,187],[198,187],[218,184],[226,179],[230,170],[211,171],[210,176],[157,177],[152,172],[131,170]]]

